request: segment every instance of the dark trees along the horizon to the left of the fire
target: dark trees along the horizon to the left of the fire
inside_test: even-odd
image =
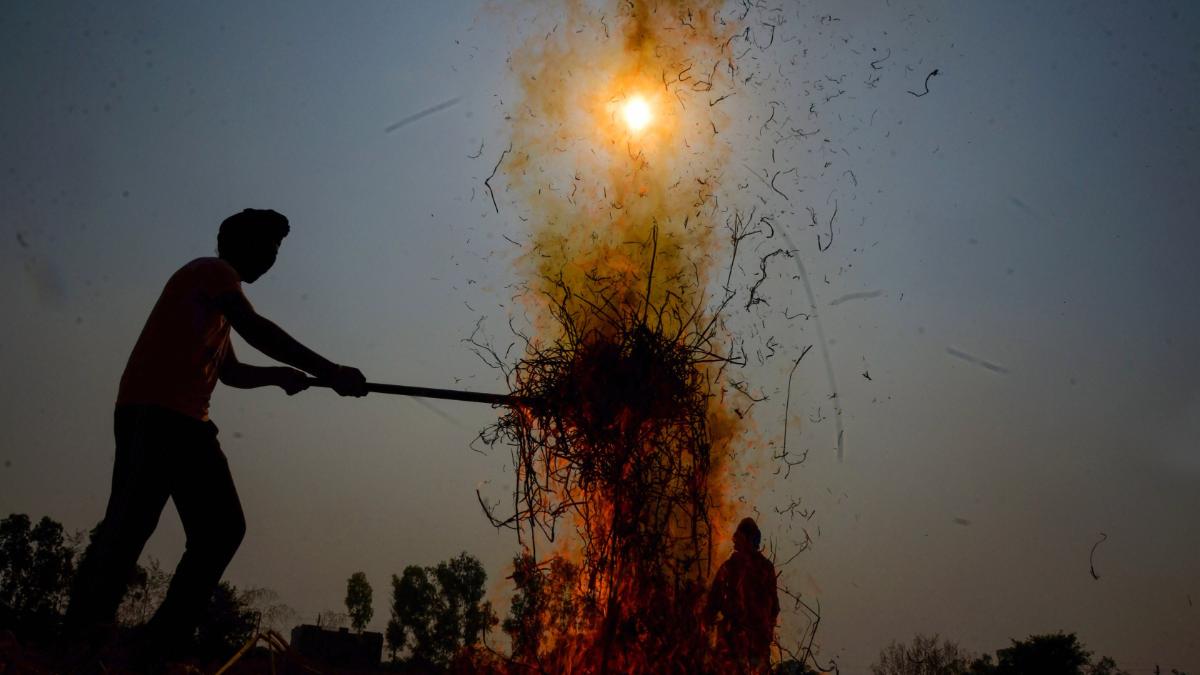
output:
[[[68,534],[48,516],[35,524],[28,515],[13,513],[0,521],[0,631],[11,631],[25,644],[54,645],[86,538]],[[139,563],[118,609],[118,628],[131,629],[149,621],[170,579],[157,560]],[[445,669],[464,650],[479,647],[499,622],[485,599],[487,573],[466,551],[434,566],[408,566],[402,574],[394,574],[391,583],[386,640],[392,664],[400,669]],[[318,625],[366,628],[374,614],[366,574],[358,572],[347,580],[346,608],[344,615],[320,613]],[[239,590],[222,581],[193,637],[196,653],[227,658],[256,632],[275,628],[286,634],[298,619],[274,591]]]

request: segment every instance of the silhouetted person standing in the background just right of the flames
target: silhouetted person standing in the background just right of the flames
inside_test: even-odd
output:
[[[733,555],[716,571],[706,615],[716,626],[718,651],[738,673],[767,673],[779,616],[775,566],[758,546],[762,533],[752,518],[733,532]]]

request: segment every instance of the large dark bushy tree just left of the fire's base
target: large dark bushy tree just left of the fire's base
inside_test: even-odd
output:
[[[388,645],[392,658],[408,649],[416,664],[446,667],[464,647],[478,645],[497,623],[484,601],[487,573],[463,551],[436,567],[408,566],[391,577]]]

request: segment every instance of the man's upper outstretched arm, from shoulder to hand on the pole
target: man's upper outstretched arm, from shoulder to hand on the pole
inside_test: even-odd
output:
[[[343,396],[365,396],[366,378],[355,368],[337,365],[305,347],[271,319],[259,315],[239,291],[230,291],[216,299],[217,307],[251,347],[277,362],[308,372],[329,382]]]

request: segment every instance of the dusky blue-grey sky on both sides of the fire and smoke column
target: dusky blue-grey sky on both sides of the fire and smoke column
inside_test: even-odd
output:
[[[1200,671],[1200,5],[780,5],[727,102],[720,198],[787,237],[738,277],[796,251],[730,328],[770,396],[748,453],[787,424],[808,460],[739,496],[779,560],[811,534],[781,579],[820,602],[822,658],[1062,629],[1134,673]],[[372,381],[504,392],[463,339],[506,345],[524,316],[529,225],[484,180],[506,58],[560,11],[518,7],[6,2],[0,516],[101,518],[138,331],[247,207],[292,223],[245,288],[263,315]],[[503,615],[517,542],[475,490],[510,496],[510,459],[470,447],[497,411],[218,386],[211,416],[248,522],[229,581],[312,621],[362,571],[383,629],[392,573],[467,550]],[[794,500],[811,520],[775,513]],[[182,543],[168,507],[146,555],[173,568]]]

